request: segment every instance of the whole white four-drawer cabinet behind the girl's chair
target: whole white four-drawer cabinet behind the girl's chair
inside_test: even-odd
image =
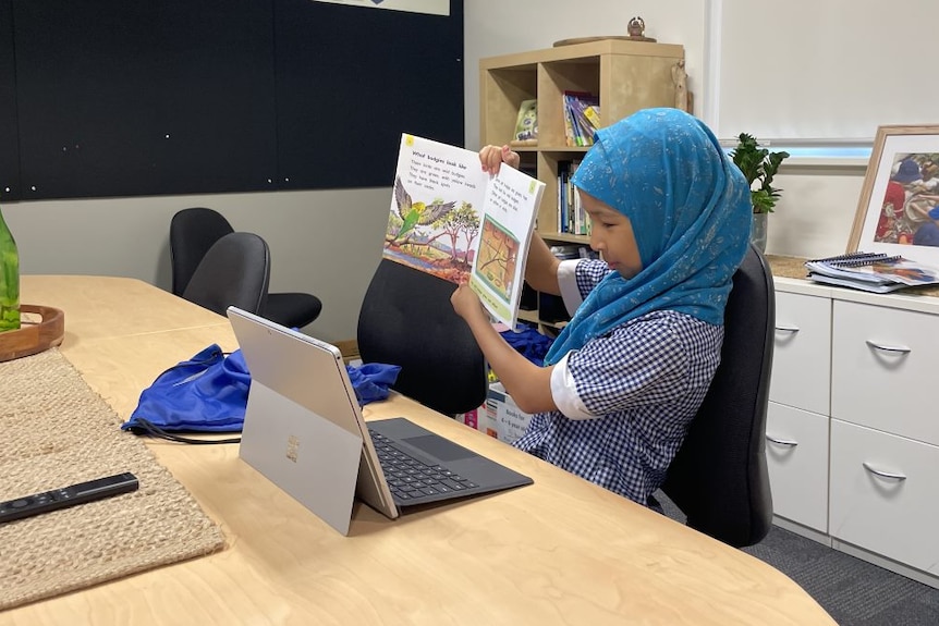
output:
[[[939,588],[939,297],[786,278],[776,296],[776,521]]]

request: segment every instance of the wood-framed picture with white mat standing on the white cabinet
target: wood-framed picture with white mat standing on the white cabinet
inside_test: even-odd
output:
[[[847,251],[939,267],[939,125],[880,126]]]

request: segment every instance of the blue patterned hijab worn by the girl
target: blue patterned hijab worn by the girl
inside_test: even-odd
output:
[[[723,324],[753,207],[746,179],[703,122],[678,109],[638,111],[597,132],[572,182],[630,219],[643,269],[600,281],[546,364],[656,310]]]

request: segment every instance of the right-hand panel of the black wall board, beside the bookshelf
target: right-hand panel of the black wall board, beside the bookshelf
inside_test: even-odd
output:
[[[463,145],[462,0],[449,17],[282,0],[275,26],[284,187],[390,186],[402,132]]]

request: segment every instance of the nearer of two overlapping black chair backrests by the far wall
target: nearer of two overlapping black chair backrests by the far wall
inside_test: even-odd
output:
[[[206,253],[183,297],[219,315],[230,305],[263,315],[269,280],[267,243],[254,233],[229,233]]]

